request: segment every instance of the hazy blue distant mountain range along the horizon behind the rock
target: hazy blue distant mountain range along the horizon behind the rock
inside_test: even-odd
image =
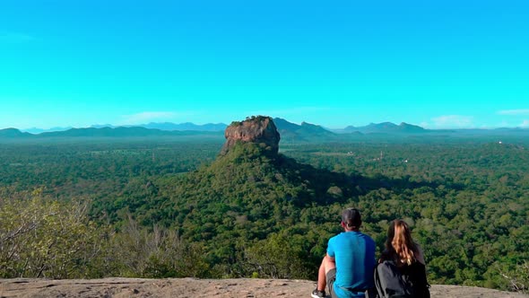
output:
[[[324,142],[356,139],[363,136],[529,136],[525,128],[497,129],[425,129],[408,123],[396,125],[392,122],[371,123],[365,127],[329,129],[302,122],[300,125],[283,118],[273,118],[282,142]],[[94,125],[87,128],[55,127],[51,129],[16,128],[0,129],[2,139],[30,139],[47,137],[143,137],[143,136],[214,136],[222,137],[228,125],[223,123],[195,125],[194,123],[148,123],[139,126],[115,127]],[[54,131],[49,131],[55,129]]]

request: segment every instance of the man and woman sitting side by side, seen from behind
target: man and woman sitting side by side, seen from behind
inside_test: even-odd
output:
[[[357,209],[343,211],[341,224],[344,232],[329,240],[327,254],[318,270],[317,288],[311,296],[325,297],[325,285],[328,285],[332,298],[429,297],[424,257],[421,248],[412,241],[408,224],[402,220],[391,223],[386,250],[377,264],[375,241],[360,232],[361,223]],[[410,280],[415,285],[404,289]],[[425,290],[419,291],[413,286]]]

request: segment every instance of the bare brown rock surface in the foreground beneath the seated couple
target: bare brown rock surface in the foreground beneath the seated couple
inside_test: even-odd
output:
[[[0,279],[0,297],[310,297],[316,282],[290,279]],[[527,298],[472,286],[432,285],[432,298]]]

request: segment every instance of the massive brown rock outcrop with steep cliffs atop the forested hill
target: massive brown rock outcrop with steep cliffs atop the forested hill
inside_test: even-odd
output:
[[[264,145],[271,153],[277,154],[281,138],[272,118],[264,116],[247,118],[242,122],[232,122],[224,131],[224,137],[226,137],[226,143],[222,146],[221,154],[228,153],[237,142]]]

